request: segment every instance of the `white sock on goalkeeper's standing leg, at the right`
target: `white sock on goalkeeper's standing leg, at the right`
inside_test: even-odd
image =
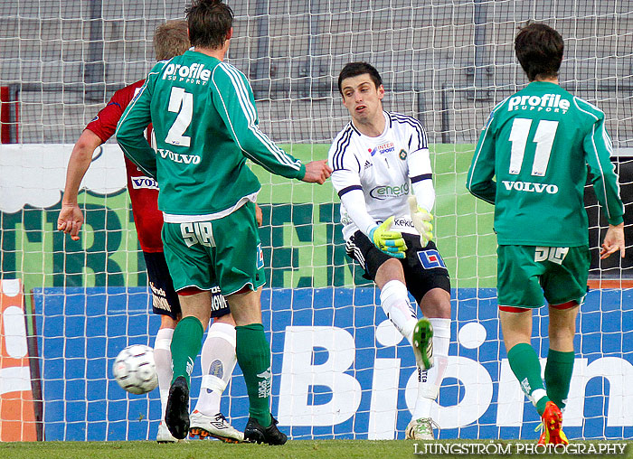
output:
[[[438,398],[439,386],[449,363],[450,319],[429,319],[433,325],[433,359],[429,370],[418,369],[418,399],[413,409],[413,419],[430,417],[430,410]]]

